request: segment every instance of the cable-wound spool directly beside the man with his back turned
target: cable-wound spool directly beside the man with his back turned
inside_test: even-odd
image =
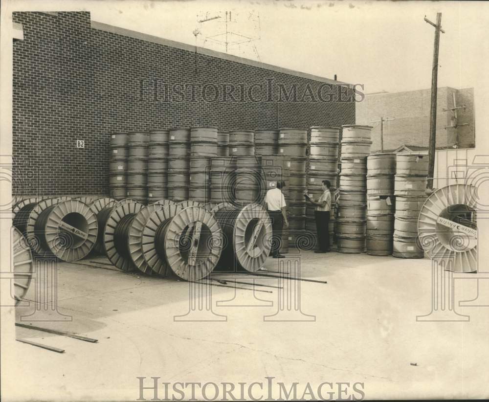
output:
[[[259,204],[243,208],[225,207],[215,213],[227,244],[219,265],[257,271],[267,259],[272,244],[272,227],[268,212]]]

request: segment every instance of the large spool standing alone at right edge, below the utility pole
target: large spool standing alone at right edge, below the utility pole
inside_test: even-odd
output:
[[[418,221],[420,244],[445,269],[477,270],[477,188],[467,184],[443,187],[423,204]]]

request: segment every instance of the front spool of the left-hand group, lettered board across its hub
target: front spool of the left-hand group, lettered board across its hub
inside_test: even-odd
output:
[[[45,208],[35,221],[43,251],[62,261],[86,257],[97,240],[97,217],[90,207],[78,200],[55,203]]]

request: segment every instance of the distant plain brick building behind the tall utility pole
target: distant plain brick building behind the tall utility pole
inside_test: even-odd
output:
[[[450,111],[454,107],[466,108]],[[427,148],[430,128],[431,89],[409,92],[381,92],[367,94],[363,102],[356,105],[356,124],[374,126],[372,130],[372,151],[381,149],[380,118],[394,118],[383,123],[383,149],[396,150],[406,145],[408,148]],[[446,112],[444,112],[444,110]],[[436,116],[437,148],[474,148],[474,89],[438,89]],[[457,127],[453,127],[457,126]]]

